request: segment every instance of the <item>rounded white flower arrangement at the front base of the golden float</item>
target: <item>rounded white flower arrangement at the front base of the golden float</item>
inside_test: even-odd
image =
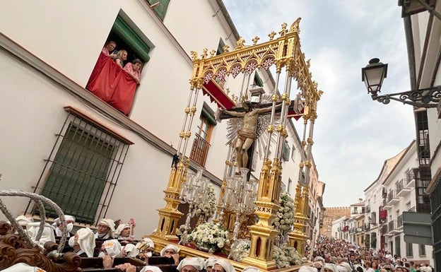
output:
[[[228,240],[228,230],[225,230],[220,224],[212,222],[201,224],[194,228],[189,234],[189,241],[194,242],[199,249],[207,249],[208,253],[223,249],[225,245],[230,244]]]

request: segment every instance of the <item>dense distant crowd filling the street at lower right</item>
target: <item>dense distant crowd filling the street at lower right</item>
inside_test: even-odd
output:
[[[313,268],[322,272],[433,271],[430,264],[416,264],[401,256],[392,255],[391,252],[360,248],[350,242],[324,236],[318,237],[312,250]]]

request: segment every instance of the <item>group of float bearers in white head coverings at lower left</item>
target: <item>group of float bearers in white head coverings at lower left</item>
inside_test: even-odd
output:
[[[42,247],[45,242],[56,242],[57,237],[63,234],[63,225],[65,225],[69,242],[64,252],[75,252],[81,257],[101,257],[102,268],[114,267],[119,268],[121,271],[137,271],[136,266],[129,263],[114,266],[115,258],[131,257],[143,261],[145,266],[143,266],[141,272],[161,272],[158,266],[154,264],[149,265],[149,259],[152,259],[154,256],[159,256],[169,260],[167,264],[175,265],[180,272],[235,272],[234,266],[223,258],[182,259],[179,254],[180,248],[175,244],[167,244],[160,252],[155,252],[155,244],[148,236],[142,237],[139,241],[134,240],[136,223],[133,218],[127,223],[124,223],[122,220],[102,218],[95,232],[89,227],[83,227],[73,233],[73,223],[75,223],[75,220],[76,218],[71,215],[64,215],[65,224],[61,223],[60,218],[55,219],[52,225],[46,223],[42,236],[37,244]],[[25,215],[18,216],[16,221],[26,230],[30,238],[35,240],[40,222],[33,222],[33,218],[26,217]],[[17,232],[16,230],[13,231]],[[95,242],[98,240],[102,240],[102,245],[97,252],[97,250],[95,250],[97,247]],[[18,264],[4,271],[33,271],[31,268],[33,267]],[[259,269],[249,266],[245,268],[243,272],[259,272]]]

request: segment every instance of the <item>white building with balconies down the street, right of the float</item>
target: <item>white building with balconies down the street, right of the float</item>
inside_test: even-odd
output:
[[[366,202],[375,203],[375,213],[366,213],[365,239],[370,240],[373,248],[384,249],[393,255],[406,257],[409,261],[433,262],[431,256],[425,254],[432,247],[423,244],[411,244],[404,241],[404,211],[418,211],[418,193],[415,180],[418,177],[418,155],[416,141],[399,154],[384,162],[379,178],[365,189]],[[377,198],[374,196],[380,196]],[[375,200],[375,202],[374,202]],[[421,206],[420,206],[421,208]],[[378,214],[378,215],[377,215]],[[377,241],[380,237],[380,244]]]

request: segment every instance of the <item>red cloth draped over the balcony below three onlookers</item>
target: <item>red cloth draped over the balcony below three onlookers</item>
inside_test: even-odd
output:
[[[136,81],[110,57],[100,53],[86,89],[127,115],[133,104]]]

